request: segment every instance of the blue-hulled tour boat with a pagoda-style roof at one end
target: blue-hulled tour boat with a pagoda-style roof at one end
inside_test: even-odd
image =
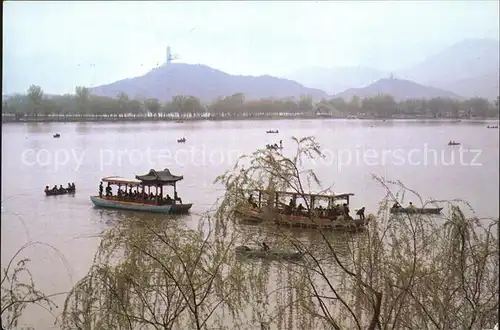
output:
[[[136,175],[135,179],[127,179],[117,176],[110,176],[101,179],[101,183],[118,186],[117,195],[102,194],[91,196],[90,200],[98,207],[107,207],[122,210],[156,212],[156,213],[187,213],[192,203],[184,204],[177,196],[177,182],[183,176],[172,175],[168,169],[163,171],[150,170],[148,174]],[[163,194],[164,186],[172,186],[174,198]],[[125,193],[121,188],[125,188]],[[135,189],[137,194],[126,193],[126,189],[132,192]],[[153,192],[152,188],[155,188]]]

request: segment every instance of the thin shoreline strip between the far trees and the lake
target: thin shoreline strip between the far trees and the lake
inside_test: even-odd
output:
[[[346,117],[326,117],[326,116],[279,116],[279,117],[268,117],[268,116],[255,116],[255,117],[198,117],[198,118],[153,118],[153,117],[125,117],[125,118],[29,118],[16,120],[14,118],[2,118],[3,124],[28,124],[28,123],[124,123],[124,122],[173,122],[173,123],[187,123],[187,122],[197,122],[197,121],[270,121],[270,120],[293,120],[293,119],[314,119],[314,120],[371,120],[371,121],[403,121],[403,120],[427,120],[427,121],[452,121],[452,122],[462,122],[462,121],[498,121],[500,118],[346,118]]]

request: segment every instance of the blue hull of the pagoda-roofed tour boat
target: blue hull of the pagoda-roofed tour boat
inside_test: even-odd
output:
[[[99,196],[91,196],[90,200],[97,207],[169,214],[188,213],[189,209],[191,209],[191,206],[193,206],[193,204],[152,205],[146,203],[124,202],[114,199],[106,199]]]

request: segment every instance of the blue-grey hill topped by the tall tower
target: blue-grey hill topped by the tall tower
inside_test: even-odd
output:
[[[295,81],[271,76],[233,76],[206,65],[171,63],[155,68],[143,76],[120,80],[90,89],[95,95],[157,98],[168,101],[175,95],[193,95],[202,101],[244,93],[247,99],[300,98],[310,95],[319,100],[328,95],[319,89],[305,87]]]

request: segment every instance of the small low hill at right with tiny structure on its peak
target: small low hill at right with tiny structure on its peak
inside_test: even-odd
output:
[[[335,97],[341,97],[346,101],[352,99],[354,95],[360,98],[372,97],[377,94],[390,94],[396,101],[407,99],[422,99],[434,97],[459,98],[455,93],[435,87],[423,86],[409,80],[385,78],[363,88],[350,88]]]

